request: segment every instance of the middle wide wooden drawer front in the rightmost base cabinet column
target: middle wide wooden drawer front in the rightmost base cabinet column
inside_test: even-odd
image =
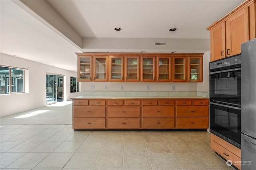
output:
[[[177,106],[177,117],[208,117],[208,106]]]

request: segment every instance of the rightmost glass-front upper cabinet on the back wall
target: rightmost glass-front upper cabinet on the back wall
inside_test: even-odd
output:
[[[188,57],[188,81],[202,82],[202,57]]]

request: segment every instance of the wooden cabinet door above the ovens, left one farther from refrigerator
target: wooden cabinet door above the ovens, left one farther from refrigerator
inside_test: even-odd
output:
[[[222,59],[226,54],[225,22],[211,30],[211,61]]]

